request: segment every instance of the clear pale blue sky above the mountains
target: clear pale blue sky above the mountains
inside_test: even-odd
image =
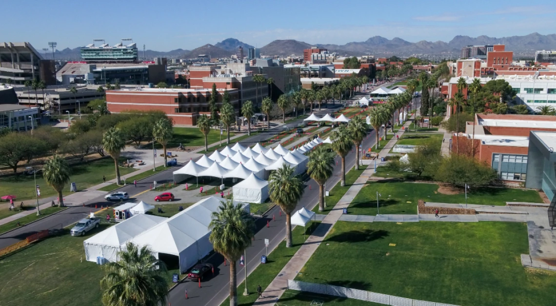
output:
[[[417,42],[556,32],[554,0],[2,0],[1,7],[0,41],[37,49],[56,41],[58,50],[96,38],[115,45],[131,37],[138,46],[170,51],[230,37],[262,47],[277,39],[343,45],[372,36]]]

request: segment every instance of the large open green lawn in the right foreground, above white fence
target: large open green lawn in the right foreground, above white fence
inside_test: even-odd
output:
[[[461,306],[553,305],[556,273],[523,268],[528,251],[523,223],[339,221],[296,279]]]

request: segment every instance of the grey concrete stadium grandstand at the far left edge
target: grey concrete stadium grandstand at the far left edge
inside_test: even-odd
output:
[[[54,75],[54,60],[44,59],[30,43],[0,43],[0,80],[3,83],[23,84],[37,79],[46,85],[56,85]]]

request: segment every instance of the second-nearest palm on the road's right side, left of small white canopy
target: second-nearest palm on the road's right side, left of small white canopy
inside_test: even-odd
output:
[[[303,195],[303,182],[294,176],[294,169],[284,164],[269,177],[270,200],[286,214],[286,248],[291,248],[291,213]]]

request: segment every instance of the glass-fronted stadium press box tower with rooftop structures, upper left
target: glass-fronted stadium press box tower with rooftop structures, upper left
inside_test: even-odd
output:
[[[123,45],[122,42],[117,43],[114,46],[109,46],[107,43],[96,47],[94,43],[82,47],[80,49],[81,59],[86,62],[112,62],[112,63],[136,63],[138,62],[138,52],[137,45],[135,43],[130,43],[129,45]]]

